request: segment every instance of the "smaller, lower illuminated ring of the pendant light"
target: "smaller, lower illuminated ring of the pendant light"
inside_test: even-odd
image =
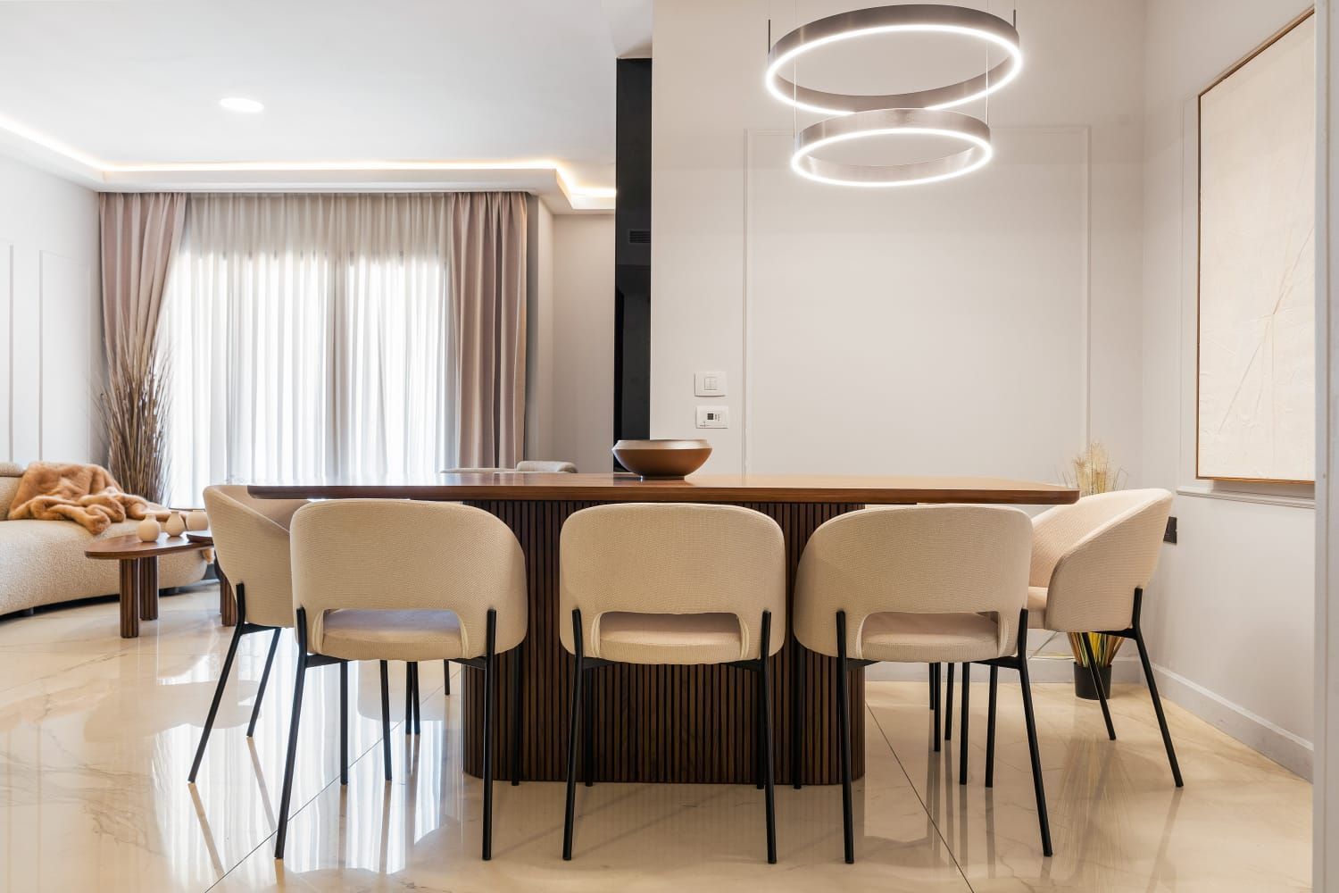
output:
[[[825,146],[868,137],[948,137],[968,143],[963,151],[907,165],[848,165],[815,155]],[[957,111],[877,108],[829,118],[795,137],[790,167],[801,177],[834,186],[917,186],[965,177],[990,163],[991,129]]]

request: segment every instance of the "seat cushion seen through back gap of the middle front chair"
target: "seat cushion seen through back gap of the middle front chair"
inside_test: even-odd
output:
[[[734,615],[600,615],[599,651],[625,664],[723,664],[740,660],[743,639]],[[777,635],[777,633],[774,633]]]

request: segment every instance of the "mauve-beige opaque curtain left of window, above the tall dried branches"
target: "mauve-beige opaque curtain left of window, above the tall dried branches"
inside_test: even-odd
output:
[[[185,193],[102,193],[102,323],[108,366],[125,347],[142,357],[158,335],[167,265],[186,224]]]

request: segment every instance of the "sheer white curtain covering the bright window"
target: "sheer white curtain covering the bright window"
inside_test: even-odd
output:
[[[191,195],[163,299],[170,499],[455,465],[453,195]]]

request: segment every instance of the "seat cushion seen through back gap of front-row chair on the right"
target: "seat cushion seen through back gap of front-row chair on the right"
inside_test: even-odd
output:
[[[861,657],[904,663],[961,663],[999,657],[999,627],[988,615],[870,615]]]

